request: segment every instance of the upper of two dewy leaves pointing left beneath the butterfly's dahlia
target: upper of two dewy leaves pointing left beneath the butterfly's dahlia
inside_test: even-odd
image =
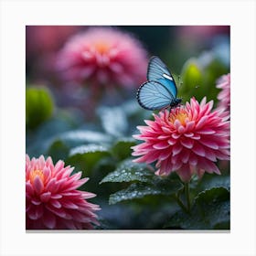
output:
[[[148,165],[133,163],[132,159],[124,160],[116,170],[105,176],[101,183],[105,182],[130,182],[130,181],[149,181],[154,173],[148,169]],[[101,184],[100,183],[100,184]]]

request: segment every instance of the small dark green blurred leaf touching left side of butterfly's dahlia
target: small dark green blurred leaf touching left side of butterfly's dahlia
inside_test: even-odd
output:
[[[135,144],[136,142],[133,138],[122,138],[112,146],[112,153],[118,159],[123,160],[132,155],[131,146]]]

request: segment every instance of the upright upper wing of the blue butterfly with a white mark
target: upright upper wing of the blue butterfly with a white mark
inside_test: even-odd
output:
[[[165,63],[156,56],[149,60],[147,80],[155,80],[163,84],[165,88],[173,94],[173,97],[176,98],[176,82]]]

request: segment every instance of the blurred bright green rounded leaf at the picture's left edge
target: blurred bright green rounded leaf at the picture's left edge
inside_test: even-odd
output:
[[[29,87],[26,90],[26,124],[35,129],[48,120],[53,113],[54,103],[47,88]]]

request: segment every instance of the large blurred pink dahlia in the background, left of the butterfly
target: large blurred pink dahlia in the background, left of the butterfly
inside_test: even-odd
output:
[[[70,37],[57,63],[65,80],[124,87],[144,81],[146,67],[141,43],[112,27],[91,27]]]

